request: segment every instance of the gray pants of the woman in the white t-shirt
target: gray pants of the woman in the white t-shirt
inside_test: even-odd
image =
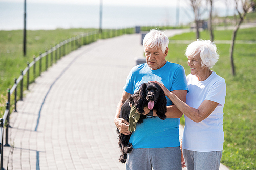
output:
[[[219,170],[222,151],[197,152],[183,149],[187,170]]]

